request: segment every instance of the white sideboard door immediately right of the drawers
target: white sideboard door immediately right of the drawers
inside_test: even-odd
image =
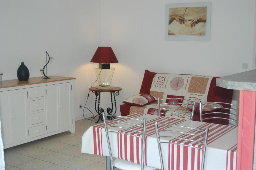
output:
[[[47,133],[60,130],[59,123],[59,85],[46,86]]]

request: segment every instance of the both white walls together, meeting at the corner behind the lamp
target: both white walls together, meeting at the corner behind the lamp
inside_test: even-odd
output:
[[[76,119],[81,119],[78,106],[84,105],[96,79],[93,67],[98,64],[90,60],[98,46],[111,46],[119,60],[111,64],[116,68],[111,84],[123,88],[116,97],[118,113],[123,99],[139,93],[145,69],[210,76],[250,70],[254,0],[212,0],[209,42],[165,41],[165,4],[187,2],[191,1],[2,0],[3,80],[17,78],[21,61],[30,77],[40,76],[48,50],[54,56],[50,75],[77,78],[75,112]],[[249,69],[242,69],[242,63],[248,63]],[[102,107],[110,106],[109,98],[107,93],[101,95]],[[93,112],[94,99],[91,93],[87,106]]]

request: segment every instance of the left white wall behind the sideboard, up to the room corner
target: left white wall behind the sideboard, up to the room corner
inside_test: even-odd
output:
[[[79,104],[84,104],[95,76],[88,63],[100,46],[101,1],[1,0],[0,23],[3,80],[17,79],[22,61],[30,77],[41,76],[47,50],[54,57],[48,75],[77,78],[75,112],[82,115]]]

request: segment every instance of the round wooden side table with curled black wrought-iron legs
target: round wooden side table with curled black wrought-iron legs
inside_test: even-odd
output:
[[[99,115],[99,119],[98,119],[98,121],[96,123],[98,123],[99,120],[103,120],[102,113],[104,111],[106,111],[108,113],[108,115],[110,115],[110,116],[107,116],[107,118],[109,120],[112,120],[113,118],[115,118],[113,116],[116,113],[116,100],[115,100],[115,96],[119,95],[119,91],[122,90],[122,88],[120,88],[120,87],[113,87],[111,89],[98,89],[96,87],[91,87],[91,88],[89,88],[89,90],[92,91],[92,93],[95,94],[95,106],[94,106],[94,108],[95,108],[95,111]],[[107,109],[103,109],[102,107],[100,107],[100,93],[101,92],[110,92],[111,108],[108,107]],[[112,114],[113,113],[113,97],[114,97],[114,105],[115,105],[115,112],[114,112],[114,114]],[[98,106],[97,106],[97,102],[98,102]]]

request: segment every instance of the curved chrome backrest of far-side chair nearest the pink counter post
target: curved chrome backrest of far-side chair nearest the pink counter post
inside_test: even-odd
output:
[[[223,107],[204,107],[208,104],[220,104]],[[229,120],[230,124],[238,126],[238,111],[239,106],[230,103],[212,102],[199,104],[199,114],[201,122],[205,122],[207,120],[222,119]]]

